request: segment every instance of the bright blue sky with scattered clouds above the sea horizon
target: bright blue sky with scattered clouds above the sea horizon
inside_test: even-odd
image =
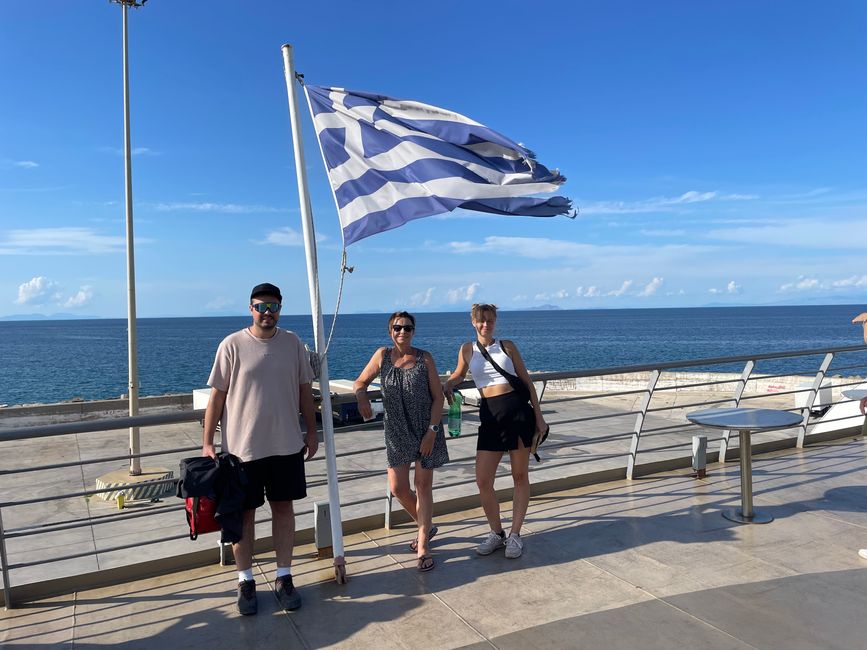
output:
[[[341,310],[867,301],[867,5],[209,3],[130,12],[139,316],[309,313],[280,46],[461,112],[576,220],[469,212],[348,248]],[[0,3],[0,317],[126,313],[121,9]],[[309,115],[323,304],[341,237]]]

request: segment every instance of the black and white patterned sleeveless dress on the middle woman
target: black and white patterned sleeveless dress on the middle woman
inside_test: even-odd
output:
[[[442,430],[437,434],[431,455],[419,454],[421,439],[430,425],[432,402],[424,351],[416,348],[415,365],[411,368],[396,368],[391,362],[391,350],[383,351],[380,370],[388,466],[399,467],[417,461],[425,469],[441,467],[449,460]]]

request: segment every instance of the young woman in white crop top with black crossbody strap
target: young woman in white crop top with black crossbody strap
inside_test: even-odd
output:
[[[491,532],[479,544],[476,552],[479,555],[490,555],[505,547],[506,557],[518,558],[524,548],[521,526],[530,503],[530,445],[533,434],[546,431],[548,425],[542,417],[536,388],[530,381],[517,346],[511,341],[494,338],[497,326],[496,306],[473,305],[471,320],[476,330],[476,341],[461,346],[457,367],[445,383],[444,392],[451,403],[454,387],[464,380],[469,370],[482,396],[479,406],[479,438],[476,443],[476,485]],[[529,404],[515,393],[508,380],[479,352],[477,343],[485,347],[498,366],[524,382],[530,392]],[[494,490],[497,467],[506,452],[509,453],[512,481],[515,485],[512,529],[508,537],[503,530],[500,502]]]

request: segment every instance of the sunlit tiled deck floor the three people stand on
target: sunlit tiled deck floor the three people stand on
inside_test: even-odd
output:
[[[346,539],[346,585],[298,549],[304,605],[283,613],[258,558],[260,611],[235,612],[235,575],[213,566],[0,613],[0,644],[124,648],[864,648],[867,441],[754,460],[767,525],[739,503],[736,463],[539,496],[525,553],[478,557],[480,510],[438,517],[437,567],[415,570],[412,530]],[[509,504],[504,507],[508,508]],[[508,516],[508,512],[505,514]]]

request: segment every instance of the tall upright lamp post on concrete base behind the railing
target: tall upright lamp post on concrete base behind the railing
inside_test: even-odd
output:
[[[136,343],[135,317],[135,242],[132,227],[132,147],[129,133],[129,44],[127,39],[126,3],[123,7],[123,139],[124,139],[124,172],[126,184],[126,287],[127,287],[127,354],[129,357],[129,414],[138,415],[138,361]],[[130,476],[141,474],[141,444],[138,427],[129,429],[129,473]]]

